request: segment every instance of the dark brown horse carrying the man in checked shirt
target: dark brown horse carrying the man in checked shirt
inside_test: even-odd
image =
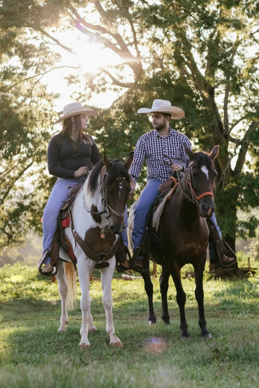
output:
[[[191,263],[194,266],[200,335],[203,338],[211,338],[204,316],[202,279],[209,238],[205,218],[210,218],[215,210],[213,191],[217,172],[213,160],[217,157],[218,146],[214,147],[210,154],[203,152],[194,154],[189,148],[186,148],[186,151],[190,158],[189,167],[175,194],[167,202],[159,223],[158,237],[162,255],[151,242],[150,258],[162,265],[160,292],[162,319],[166,325],[170,322],[167,305],[170,275],[174,280],[181,317],[181,338],[190,338],[190,334],[185,318],[186,294],[180,271],[185,264]],[[149,301],[149,321],[155,323],[153,285],[149,273],[143,273],[142,276]]]

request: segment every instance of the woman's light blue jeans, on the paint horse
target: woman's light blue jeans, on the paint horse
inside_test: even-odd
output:
[[[51,247],[52,239],[57,229],[59,213],[64,205],[63,201],[69,198],[69,189],[66,186],[74,186],[78,182],[79,178],[58,178],[53,186],[43,213],[43,253]],[[50,262],[51,258],[49,256],[46,257],[44,263],[48,264]]]

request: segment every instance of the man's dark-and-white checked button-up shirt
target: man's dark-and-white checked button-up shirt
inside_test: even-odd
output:
[[[173,163],[186,169],[189,158],[184,144],[192,149],[188,137],[171,127],[169,127],[169,134],[166,137],[161,136],[156,129],[142,135],[137,141],[134,160],[129,169],[133,181],[132,187],[138,179],[144,159],[147,164],[147,177],[156,178],[161,182],[169,179],[169,176],[172,175],[172,169],[163,161],[163,155],[167,155]]]

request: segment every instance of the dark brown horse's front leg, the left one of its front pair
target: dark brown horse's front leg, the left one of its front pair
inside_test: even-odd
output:
[[[176,288],[176,301],[180,310],[181,324],[180,328],[182,330],[181,339],[190,339],[191,335],[188,333],[188,325],[185,318],[185,302],[186,302],[186,293],[183,289],[181,281],[181,269],[177,265],[170,263],[170,272],[173,277],[175,288]]]

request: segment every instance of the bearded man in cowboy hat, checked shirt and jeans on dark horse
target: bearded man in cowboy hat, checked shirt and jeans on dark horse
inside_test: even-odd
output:
[[[154,130],[142,135],[136,144],[134,150],[134,160],[130,167],[131,175],[131,192],[132,196],[135,189],[135,184],[138,179],[144,159],[147,164],[147,183],[140,194],[137,205],[134,211],[134,226],[132,231],[133,252],[141,244],[143,238],[146,217],[148,210],[155,198],[159,195],[158,187],[160,184],[169,179],[173,172],[185,171],[189,157],[185,151],[185,145],[192,149],[190,140],[186,135],[172,129],[169,125],[171,118],[181,119],[185,116],[185,112],[178,107],[171,106],[170,101],[154,100],[152,108],[141,108],[138,113],[151,113],[152,125]],[[173,162],[171,166],[167,166],[163,157],[168,156]],[[206,170],[203,171],[207,173]],[[215,213],[211,217],[220,237],[221,231],[217,225]],[[216,247],[212,241],[209,242],[209,254],[211,263],[217,260]],[[221,263],[227,267],[235,262],[235,258],[220,256]],[[140,254],[136,260],[136,266],[143,269],[143,255]]]

